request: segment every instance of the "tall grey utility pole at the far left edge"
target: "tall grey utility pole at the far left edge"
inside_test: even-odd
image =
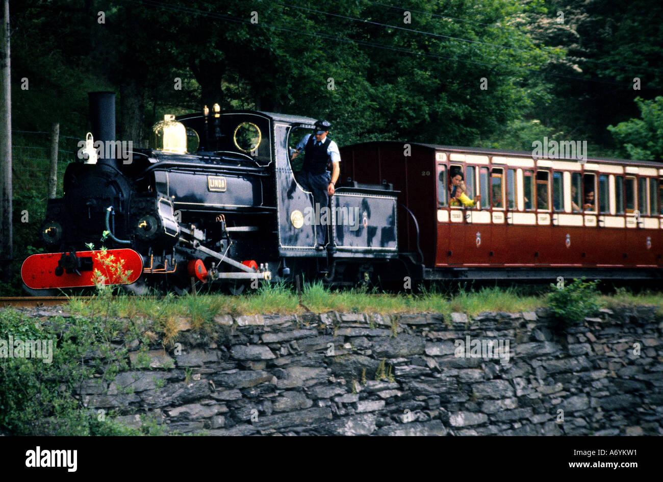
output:
[[[9,64],[9,0],[4,0],[0,48],[0,276],[10,281],[13,274],[11,207],[11,67]]]

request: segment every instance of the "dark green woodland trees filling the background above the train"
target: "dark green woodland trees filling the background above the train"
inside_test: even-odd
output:
[[[86,91],[107,89],[137,143],[162,113],[219,102],[325,117],[341,143],[529,150],[550,131],[612,153],[605,127],[662,87],[661,7],[637,5],[26,0],[11,13],[15,127],[80,135]]]

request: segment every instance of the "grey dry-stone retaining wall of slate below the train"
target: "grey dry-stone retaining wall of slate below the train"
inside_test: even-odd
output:
[[[211,435],[663,434],[663,323],[654,308],[601,316],[566,333],[544,310],[220,316],[168,351],[131,343],[132,371],[80,396]],[[489,339],[509,341],[508,363],[458,349]]]

